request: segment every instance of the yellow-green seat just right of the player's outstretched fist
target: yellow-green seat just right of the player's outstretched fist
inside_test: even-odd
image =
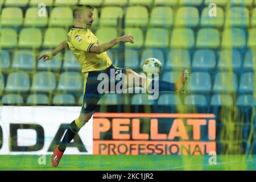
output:
[[[167,48],[169,47],[169,31],[164,28],[148,28],[144,47]]]

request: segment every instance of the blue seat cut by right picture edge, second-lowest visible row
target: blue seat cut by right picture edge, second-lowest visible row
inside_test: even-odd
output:
[[[254,72],[243,73],[240,77],[240,93],[253,93],[256,90]]]

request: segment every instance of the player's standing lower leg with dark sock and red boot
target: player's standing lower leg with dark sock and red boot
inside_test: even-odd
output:
[[[67,144],[71,142],[71,140],[76,136],[82,126],[85,125],[86,122],[92,117],[92,114],[80,114],[79,118],[75,119],[66,131],[63,140],[61,141],[59,146],[56,146],[55,151],[52,154],[52,166],[59,166],[60,159],[62,158],[64,151],[67,148]]]

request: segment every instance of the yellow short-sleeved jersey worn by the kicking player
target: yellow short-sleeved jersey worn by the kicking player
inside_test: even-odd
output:
[[[68,32],[66,43],[79,61],[82,73],[101,71],[112,65],[112,61],[106,52],[99,55],[89,52],[93,44],[100,43],[88,28],[73,27]]]

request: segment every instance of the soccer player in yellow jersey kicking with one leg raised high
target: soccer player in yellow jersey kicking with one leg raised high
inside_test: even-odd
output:
[[[119,73],[131,74],[139,83],[134,83],[132,80],[125,80],[126,88],[141,87],[146,90],[154,88],[158,85],[159,91],[170,91],[179,93],[184,91],[184,85],[188,81],[188,71],[185,69],[180,78],[175,82],[167,82],[162,80],[150,80],[146,77],[139,76],[130,68],[117,68],[112,64],[112,60],[108,57],[106,51],[118,43],[134,43],[132,35],[123,35],[119,38],[113,39],[107,43],[99,43],[95,35],[90,31],[90,27],[94,21],[93,19],[94,8],[90,5],[78,5],[74,9],[75,24],[69,31],[67,38],[64,42],[60,43],[53,51],[44,53],[38,59],[44,61],[51,60],[57,53],[69,47],[76,56],[82,67],[84,74],[84,100],[82,103],[81,113],[79,118],[75,119],[66,131],[63,140],[55,148],[52,155],[52,166],[57,167],[60,159],[64,154],[67,144],[75,137],[82,126],[92,117],[94,109],[103,94],[98,93],[97,85],[101,80],[97,80],[100,73],[105,73],[110,76],[111,69],[114,69],[115,75]],[[110,12],[111,13],[111,12]],[[106,32],[106,36],[108,32]],[[115,83],[116,84],[116,83]]]

